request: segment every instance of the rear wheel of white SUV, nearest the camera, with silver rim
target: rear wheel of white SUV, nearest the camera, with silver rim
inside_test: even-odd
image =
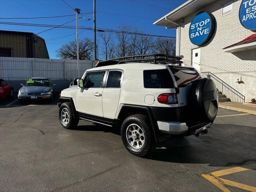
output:
[[[148,118],[142,114],[127,117],[122,123],[121,136],[126,149],[136,156],[147,156],[156,147]]]

